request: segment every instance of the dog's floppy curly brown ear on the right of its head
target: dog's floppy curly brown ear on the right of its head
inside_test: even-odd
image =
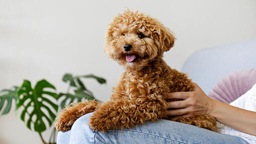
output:
[[[174,46],[175,37],[171,33],[171,30],[165,27],[163,24],[158,24],[155,26],[155,38],[160,42],[160,51],[165,52],[170,50]]]

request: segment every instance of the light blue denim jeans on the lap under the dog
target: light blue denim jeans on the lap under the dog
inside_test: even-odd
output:
[[[57,144],[65,143],[248,143],[232,135],[219,134],[204,128],[160,119],[147,121],[133,129],[115,129],[104,133],[88,126],[92,113],[78,118],[70,131],[59,132]]]

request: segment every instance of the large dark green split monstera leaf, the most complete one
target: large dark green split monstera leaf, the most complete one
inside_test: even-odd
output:
[[[27,124],[27,127],[31,129],[31,124],[33,123],[35,131],[42,132],[46,130],[46,124],[43,120],[43,117],[47,120],[49,123],[49,126],[52,125],[52,122],[56,118],[56,114],[58,111],[58,105],[56,101],[51,101],[49,97],[53,97],[54,99],[58,99],[58,95],[56,92],[52,91],[46,91],[44,88],[50,88],[53,91],[56,91],[56,88],[46,81],[45,79],[40,80],[37,82],[35,88],[32,88],[31,82],[29,80],[24,80],[22,86],[18,90],[18,100],[17,100],[17,108],[20,108],[21,106],[24,107],[21,119],[25,121],[26,113],[29,116],[28,120],[25,121]],[[27,104],[25,104],[25,101]],[[48,103],[45,105],[44,103]],[[48,105],[51,105],[51,107],[54,108],[52,110]],[[28,111],[28,108],[32,107],[32,111]],[[42,110],[44,109],[44,110]],[[47,115],[45,113],[47,111],[49,114]],[[35,115],[36,119],[32,119],[32,117]]]

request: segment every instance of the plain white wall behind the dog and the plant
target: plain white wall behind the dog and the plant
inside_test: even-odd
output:
[[[179,70],[198,49],[256,37],[256,0],[0,0],[0,89],[46,78],[61,91],[65,72],[94,73],[107,84],[86,85],[108,100],[123,69],[104,53],[104,32],[125,7],[176,33],[165,60]],[[41,142],[15,112],[1,115],[0,127],[0,143]]]

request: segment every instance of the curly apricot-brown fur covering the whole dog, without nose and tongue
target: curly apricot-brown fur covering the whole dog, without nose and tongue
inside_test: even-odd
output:
[[[145,37],[139,37],[138,33]],[[86,100],[63,109],[57,118],[58,131],[67,131],[80,116],[94,111],[89,126],[96,131],[132,128],[146,120],[170,119],[166,115],[169,92],[192,91],[192,81],[185,73],[170,68],[163,53],[174,45],[175,37],[155,18],[126,9],[113,18],[105,35],[105,52],[125,69],[113,88],[111,100],[100,103]],[[130,51],[124,44],[131,44]],[[132,62],[126,55],[136,55]],[[180,99],[173,99],[180,100]],[[216,130],[216,120],[207,114],[180,117],[176,121]]]

